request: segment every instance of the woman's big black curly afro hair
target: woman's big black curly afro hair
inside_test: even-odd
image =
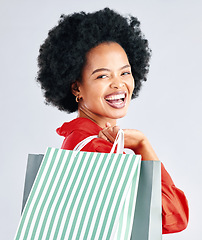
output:
[[[71,84],[81,81],[87,52],[103,42],[117,42],[125,50],[132,69],[138,96],[146,81],[151,50],[133,16],[123,17],[109,8],[93,13],[61,15],[41,45],[38,56],[37,81],[44,91],[46,103],[69,113],[78,110]]]

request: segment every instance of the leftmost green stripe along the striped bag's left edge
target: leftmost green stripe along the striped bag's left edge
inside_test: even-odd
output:
[[[36,192],[36,189],[37,189],[37,186],[40,182],[40,179],[41,179],[41,176],[43,174],[43,171],[44,171],[44,168],[46,166],[46,163],[47,163],[47,160],[49,158],[49,155],[50,155],[50,152],[51,152],[51,148],[48,148],[47,151],[46,151],[46,154],[44,156],[44,159],[42,161],[42,164],[41,164],[41,167],[38,171],[38,174],[37,174],[37,177],[36,177],[36,180],[35,180],[35,183],[33,185],[33,188],[31,190],[31,193],[29,195],[29,198],[27,200],[27,203],[25,205],[25,208],[24,208],[24,211],[23,211],[23,215],[22,215],[22,218],[21,218],[21,221],[20,221],[20,226],[18,228],[18,232],[17,232],[17,235],[16,235],[16,240],[20,239],[20,235],[21,235],[21,232],[22,232],[22,229],[23,229],[23,226],[24,226],[24,222],[25,222],[25,219],[27,218],[27,213],[28,213],[28,210],[29,210],[29,207],[30,207],[30,204],[33,200],[33,197],[35,195],[35,192]]]

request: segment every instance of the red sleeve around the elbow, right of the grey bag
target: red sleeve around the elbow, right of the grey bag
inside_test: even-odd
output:
[[[162,232],[175,233],[187,227],[189,209],[187,199],[178,189],[163,164],[161,164],[162,184]]]

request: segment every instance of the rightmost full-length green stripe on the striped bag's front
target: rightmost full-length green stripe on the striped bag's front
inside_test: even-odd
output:
[[[129,168],[128,168],[128,171],[127,171],[127,174],[126,174],[126,177],[125,177],[125,179],[124,179],[124,182],[123,182],[123,185],[122,185],[120,194],[119,194],[119,197],[118,197],[117,202],[116,202],[116,206],[115,206],[115,208],[114,208],[114,212],[113,212],[113,215],[112,215],[111,224],[110,224],[110,226],[109,226],[108,233],[107,233],[107,239],[109,239],[110,236],[111,236],[111,232],[112,232],[113,225],[114,225],[114,222],[115,222],[115,219],[116,219],[116,214],[117,214],[117,211],[118,211],[118,207],[119,207],[119,205],[120,205],[120,201],[121,201],[121,198],[122,198],[122,196],[123,196],[124,189],[125,189],[125,187],[126,187],[126,184],[127,184],[128,178],[129,178],[129,175],[130,175],[130,173],[131,173],[131,170],[132,170],[132,167],[133,167],[133,163],[134,163],[134,160],[133,160],[133,157],[132,157],[131,162],[130,162],[130,165],[129,165]]]

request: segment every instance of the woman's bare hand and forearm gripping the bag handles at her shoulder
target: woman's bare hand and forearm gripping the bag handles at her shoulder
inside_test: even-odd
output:
[[[118,126],[112,127],[111,124],[107,122],[106,127],[99,132],[98,136],[114,143],[119,129]],[[136,154],[142,155],[143,160],[158,160],[151,144],[142,132],[135,129],[123,129],[123,131],[125,148],[130,148]]]

